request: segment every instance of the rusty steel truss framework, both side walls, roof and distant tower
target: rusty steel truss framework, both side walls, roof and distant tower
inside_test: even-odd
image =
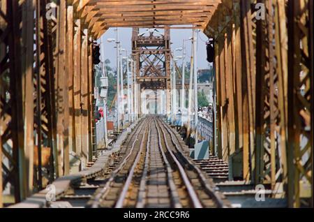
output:
[[[70,154],[93,160],[92,44],[108,28],[136,28],[137,81],[169,89],[171,112],[176,24],[215,40],[215,150],[240,159],[232,176],[313,207],[312,0],[0,0],[0,207],[68,175]],[[147,27],[165,34],[138,36]]]

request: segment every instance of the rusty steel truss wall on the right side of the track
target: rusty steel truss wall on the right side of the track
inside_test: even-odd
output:
[[[204,33],[216,40],[218,156],[240,155],[241,176],[290,207],[313,206],[313,1],[223,1]]]

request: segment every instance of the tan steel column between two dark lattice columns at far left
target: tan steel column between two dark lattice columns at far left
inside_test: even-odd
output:
[[[25,179],[23,187],[25,197],[33,191],[33,42],[34,42],[34,11],[35,1],[24,1],[22,3],[22,91],[23,91],[23,121],[24,121],[24,159],[27,168],[20,169]]]

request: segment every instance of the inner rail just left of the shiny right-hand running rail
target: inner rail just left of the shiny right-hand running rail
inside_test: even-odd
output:
[[[170,193],[172,195],[171,201],[174,205],[174,208],[182,208],[182,205],[181,205],[180,200],[179,200],[177,188],[176,188],[176,185],[174,184],[174,179],[172,177],[172,168],[171,168],[169,161],[167,160],[167,157],[165,156],[165,151],[163,151],[163,146],[161,145],[160,129],[158,128],[156,119],[154,120],[154,122],[155,122],[155,126],[156,126],[157,133],[158,133],[158,148],[161,152],[161,155],[163,156],[163,161],[164,161],[166,168],[167,168],[167,178],[168,178],[167,182],[168,182],[168,185],[170,187],[170,191],[171,191]]]

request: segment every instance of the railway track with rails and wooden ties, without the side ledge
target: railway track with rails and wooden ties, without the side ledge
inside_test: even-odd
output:
[[[140,121],[88,207],[227,207],[179,136],[158,117]]]

